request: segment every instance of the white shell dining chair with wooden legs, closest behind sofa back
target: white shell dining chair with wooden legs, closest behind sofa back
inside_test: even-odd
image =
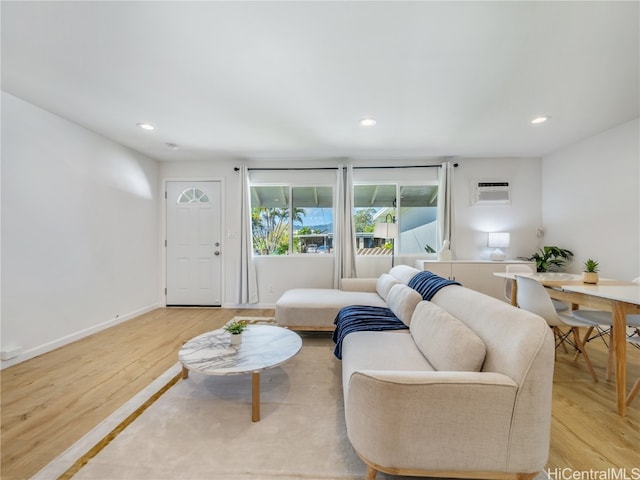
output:
[[[524,310],[535,313],[536,315],[544,318],[549,326],[553,329],[554,337],[556,339],[556,348],[560,345],[564,345],[565,342],[573,346],[578,350],[578,353],[582,354],[587,368],[593,377],[593,381],[597,382],[598,377],[591,359],[584,348],[584,343],[580,338],[579,327],[590,328],[594,324],[575,318],[571,314],[565,314],[558,312],[554,306],[549,294],[544,286],[537,280],[529,277],[523,277],[516,275],[516,282],[518,286],[517,301],[518,306]],[[562,331],[561,327],[569,327],[568,331]],[[570,339],[569,336],[573,338]]]

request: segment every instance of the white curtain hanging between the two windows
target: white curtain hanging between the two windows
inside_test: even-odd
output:
[[[338,166],[333,225],[333,286],[340,288],[341,278],[358,276],[356,271],[356,236],[353,225],[353,167]]]

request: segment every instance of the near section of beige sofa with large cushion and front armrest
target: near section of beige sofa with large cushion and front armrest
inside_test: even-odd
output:
[[[367,479],[528,479],[543,470],[554,366],[547,323],[461,286],[418,303],[405,323],[342,343],[347,434]]]

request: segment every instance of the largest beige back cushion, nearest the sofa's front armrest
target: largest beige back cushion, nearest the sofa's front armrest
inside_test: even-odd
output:
[[[420,302],[409,326],[413,340],[436,370],[479,372],[484,342],[469,327],[431,302]]]

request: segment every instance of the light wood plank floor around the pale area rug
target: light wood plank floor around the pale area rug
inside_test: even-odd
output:
[[[273,311],[158,309],[3,370],[0,477],[37,473],[171,367],[185,341],[236,315]],[[614,385],[604,380],[606,349],[600,340],[587,348],[598,383],[581,360],[558,351],[548,468],[631,475],[640,466],[640,397],[618,416]],[[640,350],[629,348],[628,359],[630,388],[640,377]]]

